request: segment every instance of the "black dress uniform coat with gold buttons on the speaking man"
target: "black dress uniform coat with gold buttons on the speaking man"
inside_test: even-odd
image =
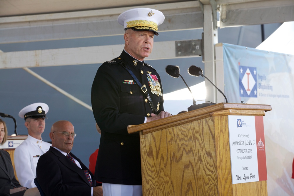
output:
[[[146,85],[158,113],[163,111],[161,80],[152,66],[126,51],[103,63],[91,92],[93,114],[101,129],[95,177],[104,183],[141,185],[140,138],[139,134],[128,134],[127,126],[144,123],[144,117],[153,112],[143,91],[121,64],[127,65],[140,83]],[[154,92],[153,86],[152,93],[150,85],[154,83],[157,90]]]

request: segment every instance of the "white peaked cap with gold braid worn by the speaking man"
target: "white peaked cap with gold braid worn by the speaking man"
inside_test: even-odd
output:
[[[163,23],[164,15],[156,9],[134,8],[121,13],[117,21],[125,30],[153,31],[154,35],[158,35],[158,26]]]

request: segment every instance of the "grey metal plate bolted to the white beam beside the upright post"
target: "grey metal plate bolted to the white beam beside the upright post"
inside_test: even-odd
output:
[[[202,56],[202,39],[176,41],[176,56]]]

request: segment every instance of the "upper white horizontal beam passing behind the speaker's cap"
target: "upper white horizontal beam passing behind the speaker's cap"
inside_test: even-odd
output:
[[[148,7],[158,9],[165,15],[160,31],[203,27],[199,1]],[[0,18],[0,44],[121,35],[124,32],[117,17],[132,8],[136,7],[3,17]]]

